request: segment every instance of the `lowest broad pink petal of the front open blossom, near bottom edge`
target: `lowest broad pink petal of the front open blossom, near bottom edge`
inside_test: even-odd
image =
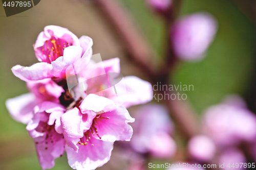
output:
[[[94,144],[92,147],[91,144]],[[69,165],[77,170],[92,170],[102,166],[110,160],[113,142],[102,141],[91,138],[89,144],[80,145],[76,153],[71,147],[66,145]]]

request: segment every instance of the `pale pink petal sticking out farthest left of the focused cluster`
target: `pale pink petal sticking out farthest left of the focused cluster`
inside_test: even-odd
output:
[[[22,94],[6,101],[6,107],[11,116],[23,124],[27,124],[33,117],[32,110],[37,101],[33,93]]]

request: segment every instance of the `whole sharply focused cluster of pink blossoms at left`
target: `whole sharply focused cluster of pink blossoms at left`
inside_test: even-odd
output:
[[[113,143],[133,135],[129,123],[135,119],[126,108],[152,100],[150,83],[134,76],[124,77],[118,92],[110,90],[109,74],[120,72],[119,59],[92,61],[92,45],[88,36],[78,39],[68,29],[47,26],[33,45],[40,62],[12,67],[30,92],[8,99],[6,106],[15,120],[27,124],[42,169],[52,168],[65,151],[74,169],[102,166],[110,160]],[[107,83],[89,79],[97,76]],[[82,91],[69,88],[72,77],[83,81]]]

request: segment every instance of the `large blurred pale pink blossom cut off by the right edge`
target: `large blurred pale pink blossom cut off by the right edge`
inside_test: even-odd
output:
[[[205,112],[204,132],[220,146],[253,141],[256,116],[248,109],[230,103],[211,106]]]

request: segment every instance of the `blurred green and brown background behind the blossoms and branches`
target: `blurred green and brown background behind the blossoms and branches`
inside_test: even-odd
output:
[[[155,60],[161,62],[166,54],[168,32],[163,18],[147,8],[144,0],[120,1],[131,12],[136,27],[150,42],[157,56]],[[206,57],[200,62],[178,61],[170,77],[173,84],[182,82],[194,85],[194,91],[188,91],[187,95],[198,117],[207,107],[220,103],[223,96],[230,93],[242,95],[250,110],[255,111],[255,4],[255,1],[249,0],[182,1],[179,16],[207,11],[219,23],[216,38]],[[103,60],[119,57],[124,76],[135,75],[147,80],[131,59],[126,58],[120,37],[101,11],[91,3],[42,0],[34,8],[10,17],[6,17],[1,7],[0,169],[40,169],[33,139],[29,137],[25,125],[10,117],[5,101],[28,92],[25,82],[13,76],[11,67],[16,64],[29,66],[37,62],[32,44],[47,25],[68,28],[77,37],[90,36],[94,41],[93,54],[100,53]],[[131,108],[130,112],[135,109]],[[175,134],[177,145],[185,148],[185,144],[179,142],[179,135]],[[121,160],[119,152],[114,147],[111,161],[99,169],[124,169],[127,162]],[[178,161],[179,157],[175,157],[174,161]],[[66,155],[56,159],[53,169],[71,169]]]

